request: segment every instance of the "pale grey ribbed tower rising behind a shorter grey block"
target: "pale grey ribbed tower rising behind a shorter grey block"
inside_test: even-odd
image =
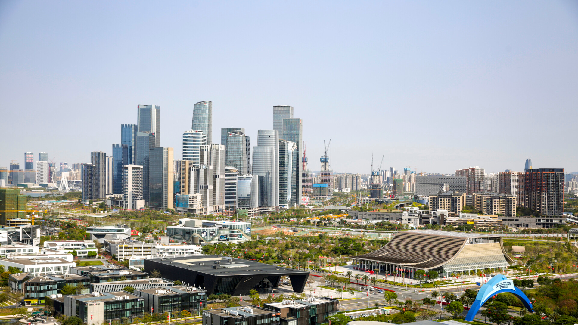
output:
[[[199,147],[199,161],[201,166],[213,166],[213,212],[223,211],[225,209],[225,146],[213,143]]]

